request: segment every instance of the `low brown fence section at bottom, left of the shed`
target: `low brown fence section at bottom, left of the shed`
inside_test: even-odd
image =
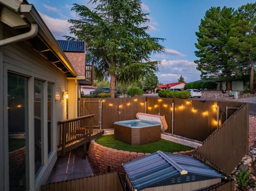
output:
[[[41,187],[41,191],[122,191],[117,172],[81,179],[56,182]]]

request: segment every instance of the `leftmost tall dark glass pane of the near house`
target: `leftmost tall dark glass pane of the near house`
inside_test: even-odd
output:
[[[26,190],[28,79],[8,73],[9,190]]]

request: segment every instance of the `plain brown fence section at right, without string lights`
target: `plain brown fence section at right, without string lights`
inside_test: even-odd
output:
[[[243,104],[197,148],[194,156],[201,161],[206,158],[229,175],[248,152],[248,120],[248,104]]]

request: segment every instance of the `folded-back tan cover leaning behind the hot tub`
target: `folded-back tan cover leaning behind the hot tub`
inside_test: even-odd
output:
[[[168,128],[168,124],[166,123],[164,115],[154,115],[154,114],[148,114],[148,113],[137,113],[136,114],[137,119],[146,120],[146,121],[156,121],[161,123],[161,130],[162,132],[166,131]]]

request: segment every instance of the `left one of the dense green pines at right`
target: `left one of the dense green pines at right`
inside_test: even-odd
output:
[[[230,67],[231,57],[227,42],[230,30],[234,26],[234,9],[211,7],[201,20],[199,31],[196,32],[198,51],[195,55],[197,69],[201,71],[202,79],[219,77],[227,81],[227,89],[231,89],[235,65]],[[234,64],[234,63],[233,63]]]

